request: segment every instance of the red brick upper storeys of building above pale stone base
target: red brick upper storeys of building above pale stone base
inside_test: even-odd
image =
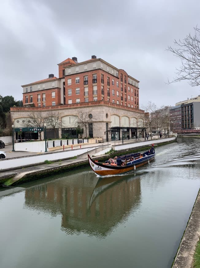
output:
[[[23,85],[25,106],[45,107],[104,100],[139,108],[139,81],[95,55],[78,63],[68,58],[58,64],[59,78]]]

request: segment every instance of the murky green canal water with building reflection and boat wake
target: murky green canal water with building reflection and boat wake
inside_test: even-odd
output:
[[[89,167],[0,190],[0,267],[171,267],[200,187],[200,140],[121,176]]]

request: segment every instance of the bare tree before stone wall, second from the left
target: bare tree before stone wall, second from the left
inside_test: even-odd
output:
[[[48,128],[53,128],[54,138],[56,138],[56,128],[62,128],[61,116],[62,113],[60,113],[59,111],[48,111],[46,113],[46,124]]]

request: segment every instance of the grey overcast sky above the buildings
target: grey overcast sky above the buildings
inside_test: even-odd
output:
[[[199,0],[6,0],[0,8],[0,95],[22,99],[21,85],[58,77],[57,63],[96,55],[140,81],[140,108],[200,95],[173,79],[180,60],[167,46],[200,26]]]

